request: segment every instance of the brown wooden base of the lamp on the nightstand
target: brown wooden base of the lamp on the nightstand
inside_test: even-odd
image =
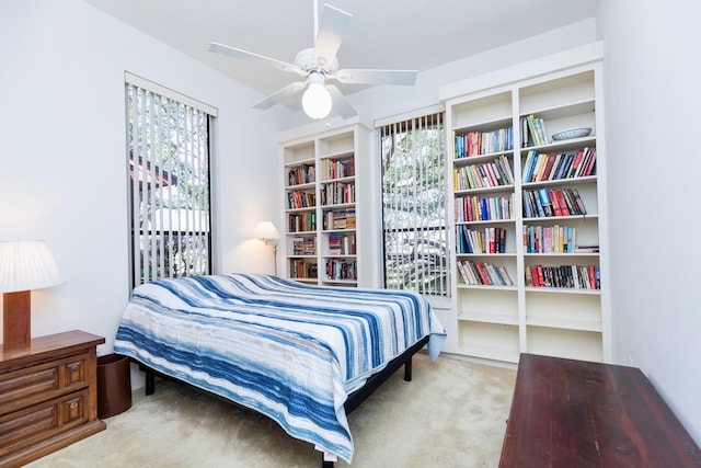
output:
[[[4,293],[2,298],[2,349],[30,347],[32,342],[32,292]]]

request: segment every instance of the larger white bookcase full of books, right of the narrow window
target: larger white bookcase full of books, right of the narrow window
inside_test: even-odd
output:
[[[450,221],[456,227],[455,321],[444,326],[458,338],[449,341],[446,351],[507,363],[518,362],[522,352],[610,359],[606,159],[602,115],[597,112],[602,109],[597,54],[596,60],[578,62],[573,57],[567,67],[537,76],[526,68],[518,79],[494,73],[503,85],[485,85],[489,80],[481,77],[447,87],[460,93],[443,96],[447,158],[453,171]],[[579,127],[593,132],[583,138],[551,138]],[[474,141],[468,135],[478,134],[490,140],[489,151],[466,149]],[[456,182],[466,174],[494,178],[475,169],[497,158],[509,164],[513,181],[485,182],[480,187]],[[501,209],[506,216],[482,219],[463,212],[466,206],[483,206],[480,198],[490,198],[487,207],[494,209],[496,197],[510,201],[510,210]],[[502,252],[474,251],[473,240],[466,247],[466,236],[492,228],[503,230]],[[514,284],[471,284],[472,278],[466,281],[461,271],[466,262],[501,266]],[[533,279],[532,275],[540,276]]]

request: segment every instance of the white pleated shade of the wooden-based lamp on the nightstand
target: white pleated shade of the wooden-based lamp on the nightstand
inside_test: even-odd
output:
[[[0,293],[42,289],[64,283],[44,241],[0,242]]]

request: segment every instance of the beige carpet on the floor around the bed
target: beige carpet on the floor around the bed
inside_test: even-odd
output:
[[[348,416],[354,468],[495,467],[516,372],[427,355],[414,358]],[[106,431],[30,467],[320,467],[311,444],[272,420],[182,385],[135,391]],[[344,461],[336,467],[348,467]]]

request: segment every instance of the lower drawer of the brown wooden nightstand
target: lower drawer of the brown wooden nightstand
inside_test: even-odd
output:
[[[88,422],[85,388],[0,416],[0,457]]]

